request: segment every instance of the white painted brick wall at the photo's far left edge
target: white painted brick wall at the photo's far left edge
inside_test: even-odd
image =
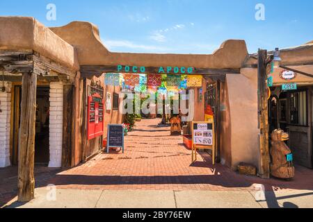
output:
[[[3,85],[0,84],[0,87]],[[5,82],[6,92],[0,92],[0,167],[10,166],[11,87]]]

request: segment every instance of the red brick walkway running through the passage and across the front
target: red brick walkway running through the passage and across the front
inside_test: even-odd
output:
[[[268,191],[313,190],[313,171],[303,167],[296,167],[296,177],[288,182],[241,176],[221,164],[212,166],[207,153],[200,153],[198,162],[191,164],[191,151],[182,144],[182,137],[170,136],[169,128],[158,128],[160,121],[136,123],[136,130],[125,137],[125,154],[101,153],[67,171],[36,167],[36,187],[54,184],[58,189],[250,191],[255,184],[262,184]],[[0,169],[0,178],[1,204],[17,194],[17,168]]]

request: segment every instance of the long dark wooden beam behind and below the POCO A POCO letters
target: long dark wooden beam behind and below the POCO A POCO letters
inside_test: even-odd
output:
[[[145,67],[145,72],[138,71],[143,74],[158,74],[160,67]],[[118,73],[117,66],[106,65],[82,65],[81,78],[93,78],[93,76],[101,76],[104,73]],[[134,72],[128,72],[135,74]],[[174,73],[169,73],[174,74]],[[192,74],[207,74],[207,75],[223,75],[223,74],[240,74],[240,69],[209,69],[209,68],[194,68]]]

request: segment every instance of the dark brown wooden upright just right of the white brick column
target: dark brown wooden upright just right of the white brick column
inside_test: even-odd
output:
[[[64,85],[63,96],[63,143],[62,143],[62,167],[72,167],[73,143],[73,96],[74,86]]]

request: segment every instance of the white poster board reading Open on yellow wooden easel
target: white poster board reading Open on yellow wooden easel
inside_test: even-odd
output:
[[[213,146],[213,123],[193,123],[193,144]]]

